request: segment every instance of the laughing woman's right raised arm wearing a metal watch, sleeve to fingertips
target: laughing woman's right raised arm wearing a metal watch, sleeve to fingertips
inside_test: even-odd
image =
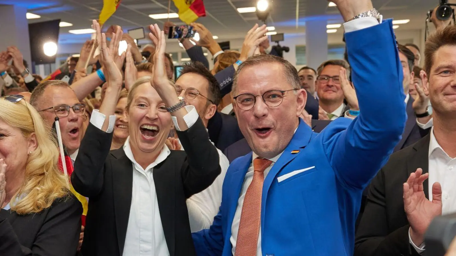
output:
[[[164,53],[166,39],[158,25],[151,25],[150,39],[156,45],[154,55],[154,75],[150,84],[166,106],[176,106],[181,103],[165,72]],[[182,169],[184,192],[187,198],[212,184],[220,174],[218,152],[209,141],[209,135],[194,106],[181,107],[171,112],[177,136],[187,153],[187,161]]]

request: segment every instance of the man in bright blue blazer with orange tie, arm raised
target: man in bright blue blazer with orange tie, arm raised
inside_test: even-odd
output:
[[[306,91],[293,65],[271,55],[240,65],[234,110],[253,153],[228,168],[218,215],[193,234],[197,255],[353,255],[363,189],[399,142],[406,114],[391,20],[378,24],[371,0],[333,2],[344,20],[355,18],[344,29],[360,114],[316,134],[299,121]]]

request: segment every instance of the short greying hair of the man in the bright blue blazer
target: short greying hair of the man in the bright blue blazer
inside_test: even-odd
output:
[[[244,61],[241,65],[239,65],[238,70],[236,70],[236,72],[234,73],[233,86],[231,89],[233,96],[236,96],[235,92],[238,87],[238,76],[241,73],[241,71],[245,67],[259,65],[262,63],[280,64],[283,67],[283,71],[284,71],[282,73],[282,75],[287,80],[287,82],[291,85],[291,87],[293,87],[293,89],[296,89],[296,90],[301,89],[298,71],[296,70],[296,68],[293,65],[291,65],[291,63],[288,60],[285,60],[284,58],[277,57],[274,55],[260,54],[260,55],[251,56],[249,59]]]

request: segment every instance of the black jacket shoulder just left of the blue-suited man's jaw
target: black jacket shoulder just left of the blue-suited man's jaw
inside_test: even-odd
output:
[[[244,139],[239,129],[238,120],[232,116],[215,112],[214,116],[207,122],[209,139],[221,151],[236,141]]]

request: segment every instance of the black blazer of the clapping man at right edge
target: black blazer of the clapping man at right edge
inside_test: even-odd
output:
[[[372,180],[358,226],[354,256],[419,256],[409,243],[403,184],[417,168],[428,172],[430,135],[391,155]],[[428,180],[423,183],[429,198]]]

